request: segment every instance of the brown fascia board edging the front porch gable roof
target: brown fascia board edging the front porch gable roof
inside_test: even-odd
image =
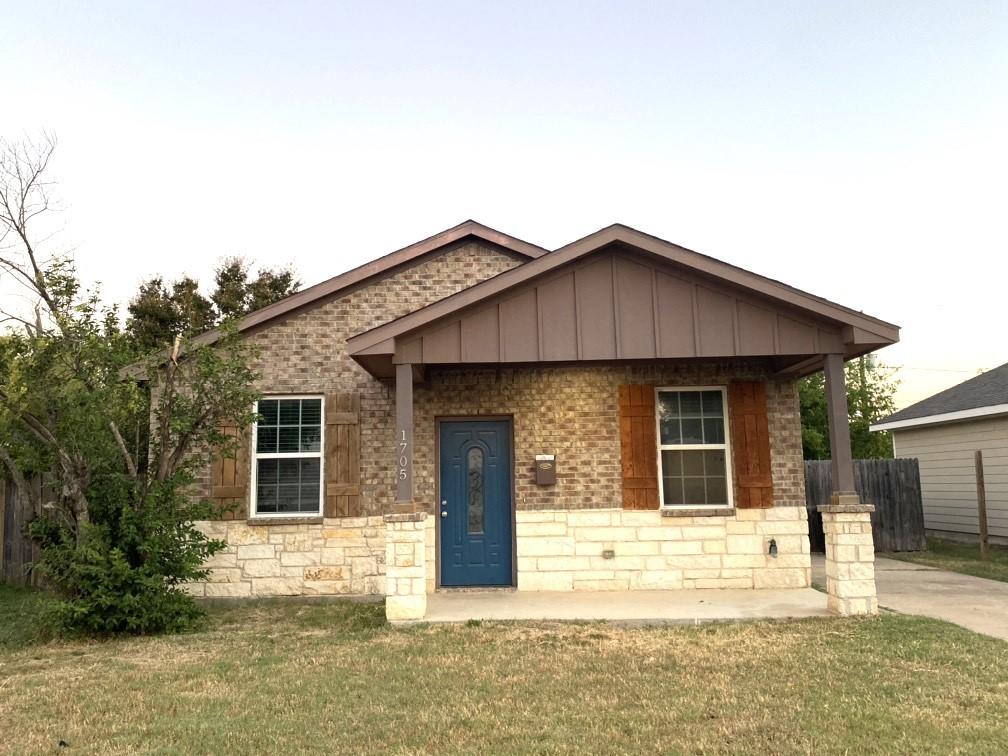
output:
[[[351,337],[347,340],[347,349],[351,355],[363,350],[369,350],[381,342],[406,334],[439,318],[468,307],[513,286],[517,286],[531,278],[547,273],[573,260],[577,260],[579,257],[584,257],[610,244],[618,243],[649,252],[665,260],[704,273],[712,278],[727,281],[772,299],[786,302],[799,309],[849,326],[852,329],[860,329],[875,334],[878,337],[876,341],[879,343],[895,344],[899,341],[899,327],[891,323],[872,318],[864,312],[845,307],[829,299],[809,294],[801,289],[727,262],[722,262],[700,252],[694,252],[672,242],[632,229],[629,226],[614,224],[563,247],[559,247],[536,260],[519,265],[511,270],[506,270],[493,278],[488,278],[482,283],[477,283],[425,307]]]

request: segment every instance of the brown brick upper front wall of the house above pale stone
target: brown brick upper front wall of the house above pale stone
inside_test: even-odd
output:
[[[277,324],[251,339],[260,349],[254,368],[265,393],[361,394],[361,514],[390,510],[394,499],[389,433],[394,391],[346,354],[346,340],[519,264],[511,255],[468,243],[352,290]],[[416,499],[434,502],[434,418],[514,416],[516,507],[605,508],[621,505],[618,387],[624,383],[719,385],[763,380],[758,364],[431,370],[415,388]],[[774,499],[804,506],[801,429],[793,382],[770,381],[767,402]],[[536,454],[556,454],[555,487],[532,482]],[[209,493],[209,471],[201,481]]]

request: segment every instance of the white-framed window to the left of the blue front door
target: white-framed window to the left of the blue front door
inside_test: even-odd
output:
[[[257,402],[254,516],[322,514],[323,409],[321,396],[277,396]]]

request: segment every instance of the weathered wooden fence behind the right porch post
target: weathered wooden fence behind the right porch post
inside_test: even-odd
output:
[[[821,504],[833,493],[830,460],[805,461],[805,507],[808,541],[813,551],[826,550]],[[854,488],[866,504],[874,504],[872,533],[876,551],[921,551],[924,510],[920,500],[920,468],[916,460],[855,460]]]

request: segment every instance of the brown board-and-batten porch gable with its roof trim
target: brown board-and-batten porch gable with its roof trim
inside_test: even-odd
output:
[[[867,354],[896,326],[624,226],[365,332],[365,369],[582,361],[773,358],[795,375],[822,355]]]

